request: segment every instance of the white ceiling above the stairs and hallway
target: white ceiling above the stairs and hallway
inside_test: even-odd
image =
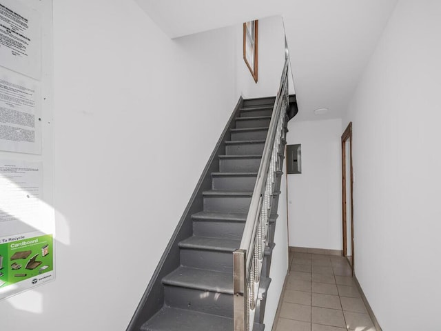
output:
[[[136,0],[170,37],[281,15],[298,120],[342,116],[397,0]],[[317,108],[329,114],[314,115]]]

